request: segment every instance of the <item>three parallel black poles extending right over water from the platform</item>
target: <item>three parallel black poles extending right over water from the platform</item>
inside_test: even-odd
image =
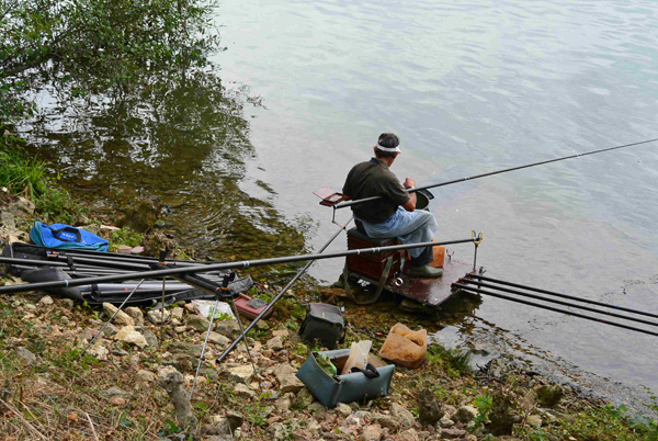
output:
[[[632,309],[617,305],[610,305],[602,302],[576,297],[574,295],[560,294],[553,291],[540,290],[532,286],[485,276],[483,274],[467,274],[465,278],[460,279],[460,281],[457,281],[456,283],[453,283],[452,287],[453,290],[462,290],[465,293],[484,294],[509,302],[529,305],[541,309],[552,310],[572,317],[583,318],[586,320],[615,326],[617,328],[624,328],[636,332],[648,333],[650,336],[658,336],[658,331],[628,325],[628,323],[631,323],[658,327],[658,320],[648,320],[642,318],[650,317],[654,319],[658,319],[658,314],[646,313],[643,310]],[[541,303],[537,303],[535,301],[538,301]],[[566,309],[565,307],[569,309]],[[586,313],[583,314],[578,310]],[[600,316],[602,315],[615,317],[624,321],[611,321],[605,318],[601,318]]]

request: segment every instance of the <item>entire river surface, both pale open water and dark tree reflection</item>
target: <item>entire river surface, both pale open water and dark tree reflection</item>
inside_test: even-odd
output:
[[[157,196],[164,228],[201,258],[317,250],[337,227],[313,191],[340,189],[382,132],[401,139],[393,171],[419,184],[658,137],[649,1],[224,0],[216,23],[220,83],[66,105],[45,90],[19,127],[94,210]],[[434,195],[436,238],[483,231],[488,275],[658,313],[658,143]],[[470,246],[449,249],[470,262]],[[342,261],[311,268],[331,283]],[[655,337],[492,297],[450,325],[436,339],[559,359],[620,400],[658,392]]]

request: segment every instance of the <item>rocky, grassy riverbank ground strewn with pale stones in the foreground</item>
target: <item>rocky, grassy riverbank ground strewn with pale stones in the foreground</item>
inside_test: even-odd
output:
[[[34,207],[14,196],[7,201],[0,208],[0,238],[25,240]],[[20,283],[7,274],[0,281]],[[251,294],[268,299],[275,292],[261,281]],[[164,315],[125,308],[90,346],[114,314],[112,305],[91,309],[42,292],[2,296],[0,439],[657,437],[655,421],[632,427],[624,409],[583,397],[513,360],[494,359],[473,371],[467,354],[439,344],[429,347],[420,369],[396,368],[388,396],[326,408],[295,376],[311,351],[320,349],[297,335],[300,303],[314,296],[300,294],[288,292],[272,318],[250,332],[248,348],[239,344],[220,364],[215,360],[240,327],[237,320],[215,320],[200,361],[209,323],[191,304],[172,305]],[[389,324],[373,319],[374,309],[343,305],[350,320],[343,347],[370,339],[376,353]]]

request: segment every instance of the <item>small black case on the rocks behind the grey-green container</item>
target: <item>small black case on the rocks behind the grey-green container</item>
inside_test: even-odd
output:
[[[328,349],[342,343],[345,339],[345,320],[340,308],[325,303],[309,303],[299,337],[307,341],[319,340]]]

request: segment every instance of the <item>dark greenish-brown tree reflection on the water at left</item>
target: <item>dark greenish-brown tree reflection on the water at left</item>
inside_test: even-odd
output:
[[[163,207],[157,224],[196,256],[253,259],[302,252],[305,220],[286,220],[240,189],[254,157],[245,105],[214,71],[145,76],[105,95],[61,100],[54,82],[39,115],[19,127],[61,184],[97,211]],[[261,184],[265,185],[264,183]]]

